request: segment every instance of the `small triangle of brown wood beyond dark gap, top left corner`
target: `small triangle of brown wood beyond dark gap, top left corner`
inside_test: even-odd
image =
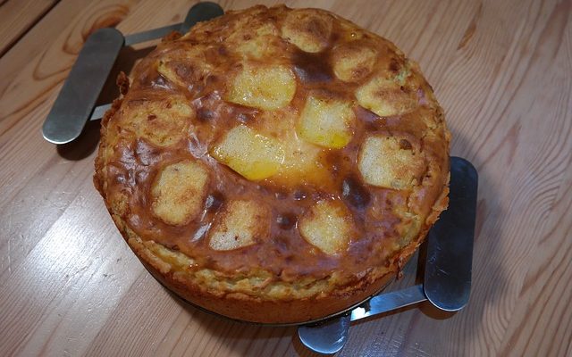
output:
[[[5,0],[0,3],[0,56],[57,2],[58,0]]]

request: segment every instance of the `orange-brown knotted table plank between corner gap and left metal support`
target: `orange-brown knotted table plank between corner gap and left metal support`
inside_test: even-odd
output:
[[[46,100],[61,84],[88,35],[114,26],[136,0],[122,2],[63,1],[0,59],[0,132]],[[22,83],[33,82],[25,87]],[[22,95],[21,91],[31,91]],[[2,143],[0,143],[2,146]]]

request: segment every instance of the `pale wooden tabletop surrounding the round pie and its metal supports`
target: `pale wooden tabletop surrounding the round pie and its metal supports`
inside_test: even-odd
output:
[[[0,7],[0,23],[24,31],[32,3]],[[59,148],[40,135],[91,31],[181,21],[192,3],[62,0],[0,58],[0,355],[311,355],[294,328],[214,318],[147,274],[92,186],[97,125]],[[311,4],[416,59],[446,110],[451,154],[480,173],[467,309],[421,305],[360,323],[340,354],[572,355],[572,2]],[[1,31],[0,45],[16,37]]]

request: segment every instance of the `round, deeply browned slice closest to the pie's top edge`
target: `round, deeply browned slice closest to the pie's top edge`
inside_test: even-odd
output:
[[[289,12],[282,26],[282,37],[310,53],[324,50],[331,33],[332,17],[314,9]]]

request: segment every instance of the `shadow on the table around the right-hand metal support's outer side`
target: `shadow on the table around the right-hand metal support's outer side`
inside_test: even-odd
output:
[[[466,158],[475,165],[479,174],[477,194],[475,241],[473,252],[473,275],[471,297],[464,310],[458,312],[441,311],[431,303],[420,303],[400,310],[377,315],[372,319],[358,321],[349,330],[348,344],[341,355],[408,355],[424,351],[430,355],[463,354],[444,348],[462,348],[478,338],[479,331],[486,324],[486,307],[494,305],[503,294],[507,285],[505,271],[501,269],[503,252],[500,245],[502,237],[502,206],[495,191],[491,173],[484,162],[474,152],[474,145],[467,137],[453,131],[451,154]],[[486,220],[486,226],[484,222]],[[425,245],[419,250],[420,262],[425,262]],[[418,264],[416,283],[422,283],[424,264]],[[394,285],[413,285],[413,278],[396,281]],[[403,319],[400,314],[403,313]],[[364,333],[366,331],[366,333]],[[369,332],[371,331],[371,332]],[[442,340],[442,343],[440,341]],[[446,347],[449,346],[449,347]]]

